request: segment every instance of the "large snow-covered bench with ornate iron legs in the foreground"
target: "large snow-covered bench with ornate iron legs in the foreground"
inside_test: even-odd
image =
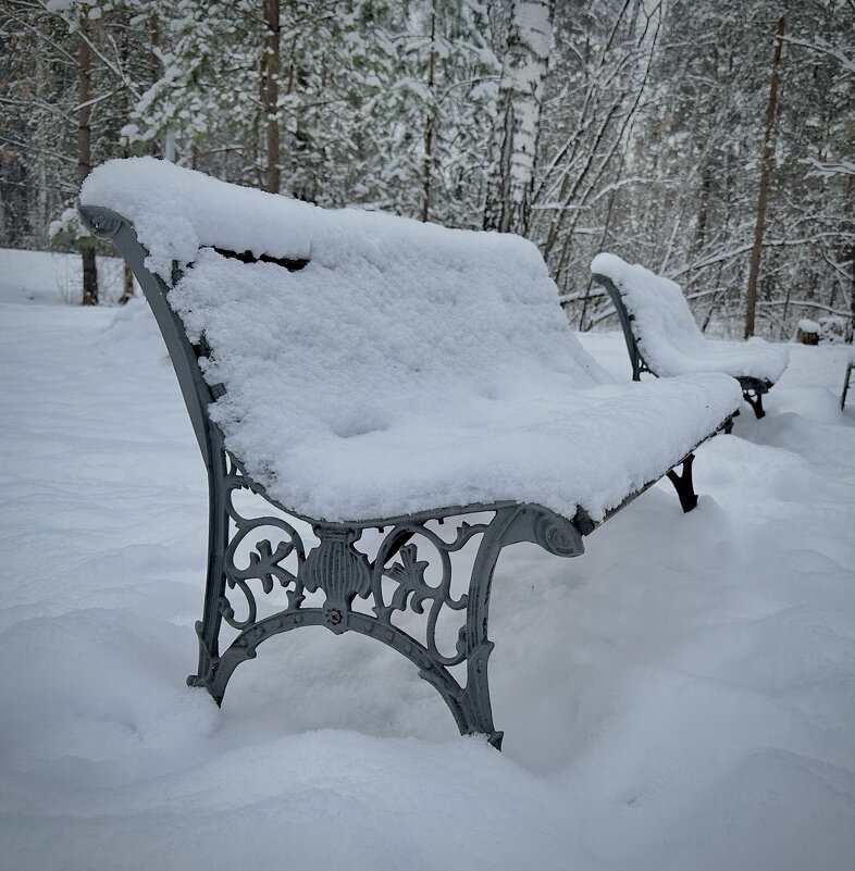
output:
[[[487,610],[501,548],[582,553],[665,474],[691,509],[692,451],[740,402],[716,374],[616,383],[515,236],[326,211],[153,159],[95,170],[80,213],[134,270],[208,468],[188,682],[218,702],[262,640],[324,625],[398,650],[461,733],[498,746]],[[268,500],[261,515],[247,490]],[[278,585],[284,607],[261,617]]]

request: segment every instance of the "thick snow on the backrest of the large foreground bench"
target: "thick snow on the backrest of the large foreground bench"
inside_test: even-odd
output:
[[[168,283],[173,260],[193,264],[170,302],[191,339],[205,334],[206,378],[226,388],[211,416],[262,483],[282,446],[374,433],[394,451],[428,418],[446,415],[450,438],[557,373],[565,395],[611,381],[517,236],[323,210],[145,158],[100,166],[80,200],[131,220]],[[289,272],[214,247],[309,262]]]

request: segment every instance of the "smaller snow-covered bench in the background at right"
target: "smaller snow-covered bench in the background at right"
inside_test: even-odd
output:
[[[763,395],[790,360],[785,348],[759,338],[708,341],[697,328],[680,285],[615,254],[597,254],[591,271],[617,309],[634,381],[642,372],[659,377],[722,372],[736,378],[754,413],[764,416]]]

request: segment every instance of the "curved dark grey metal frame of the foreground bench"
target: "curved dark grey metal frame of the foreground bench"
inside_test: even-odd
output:
[[[493,723],[487,680],[487,662],[494,647],[487,632],[490,595],[499,553],[508,545],[531,542],[549,553],[575,557],[584,551],[583,536],[597,524],[582,509],[568,520],[542,506],[510,501],[449,506],[354,523],[318,521],[281,505],[247,474],[239,459],[225,448],[221,430],[210,420],[208,407],[222,388],[211,387],[202,377],[198,358],[206,349],[188,340],[181,319],[168,302],[165,283],[145,265],[148,251],[132,224],[108,209],[82,207],[79,211],[94,235],[115,245],[142,288],[165,340],[208,470],[208,569],[202,619],[196,623],[199,664],[187,683],[205,687],[220,705],[234,670],[255,658],[258,646],[267,638],[300,626],[326,626],[335,634],[352,631],[376,638],[412,662],[419,675],[438,690],[461,734],[484,734],[494,747],[500,748],[503,733]],[[294,263],[289,267],[301,265],[305,264]],[[173,283],[179,274],[174,266]],[[668,472],[685,511],[697,503],[692,483],[693,459],[690,452],[681,460],[682,474],[673,469]],[[633,493],[623,505],[654,483]],[[310,523],[318,544],[307,548],[295,526],[274,512],[263,517],[241,514],[233,498],[240,490],[250,490],[275,511]],[[467,520],[484,512],[492,513],[487,522]],[[454,536],[441,537],[429,524],[447,519],[454,519],[456,524]],[[383,534],[373,560],[356,547],[363,531],[371,527]],[[271,528],[276,536],[270,534]],[[271,544],[274,537],[278,538],[275,548]],[[456,597],[451,592],[451,557],[478,537],[468,592]],[[247,546],[249,556],[244,556],[238,565],[238,549],[246,553]],[[424,577],[429,560],[421,557],[425,550],[441,570],[436,584],[429,584]],[[292,564],[296,562],[296,571],[285,568],[289,559]],[[264,594],[277,585],[284,588],[287,607],[260,618],[250,581],[256,587],[260,584]],[[236,617],[230,599],[230,594],[238,590],[244,619]],[[323,605],[307,606],[306,595],[319,590],[324,595]],[[358,598],[368,604],[363,610],[354,608]],[[404,611],[424,617],[423,640],[393,622]],[[461,625],[454,651],[443,652],[436,627],[439,618],[448,612],[459,612]],[[223,624],[237,635],[221,651]],[[451,673],[458,665],[466,670],[464,684]]]

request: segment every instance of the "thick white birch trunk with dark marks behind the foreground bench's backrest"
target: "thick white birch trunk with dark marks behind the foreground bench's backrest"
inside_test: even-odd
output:
[[[524,234],[529,228],[554,13],[554,0],[511,2],[499,89],[498,166],[484,214],[488,229]]]

